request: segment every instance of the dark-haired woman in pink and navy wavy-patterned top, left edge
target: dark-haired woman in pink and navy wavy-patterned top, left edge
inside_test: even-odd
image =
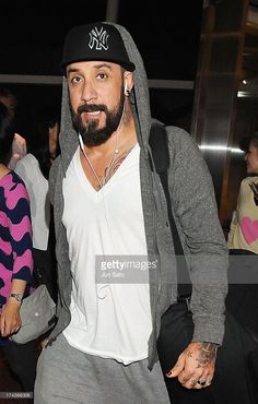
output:
[[[32,393],[36,343],[11,340],[21,326],[33,272],[30,199],[23,180],[8,167],[13,138],[13,114],[0,103],[0,347],[23,390]]]

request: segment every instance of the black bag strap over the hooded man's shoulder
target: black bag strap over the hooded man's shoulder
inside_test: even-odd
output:
[[[160,176],[166,198],[167,215],[171,225],[177,262],[177,294],[178,299],[185,299],[191,295],[191,281],[187,262],[184,254],[180,237],[177,231],[172,211],[172,201],[168,189],[167,168],[169,167],[169,152],[166,128],[161,123],[153,123],[150,133],[150,146],[156,171]],[[151,159],[150,159],[151,161]],[[152,166],[152,164],[151,164]]]

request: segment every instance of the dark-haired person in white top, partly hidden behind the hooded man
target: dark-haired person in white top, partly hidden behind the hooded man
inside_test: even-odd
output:
[[[50,229],[54,223],[48,198],[48,177],[52,158],[56,157],[58,128],[59,117],[55,109],[45,108],[38,111],[27,136],[27,154],[15,167],[15,173],[26,185],[31,200],[35,286],[45,284],[54,300],[57,295],[56,259],[54,230]],[[52,153],[49,150],[50,142]]]

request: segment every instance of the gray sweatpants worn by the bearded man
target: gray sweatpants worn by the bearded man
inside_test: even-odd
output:
[[[61,334],[38,359],[35,404],[168,404],[160,364],[128,366],[87,355]]]

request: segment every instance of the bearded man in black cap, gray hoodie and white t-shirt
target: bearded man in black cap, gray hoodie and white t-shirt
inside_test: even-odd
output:
[[[35,403],[165,404],[156,338],[161,314],[177,298],[176,286],[162,280],[176,269],[165,264],[175,254],[165,197],[150,168],[152,120],[142,59],[124,27],[95,23],[70,31],[62,68],[61,155],[50,176],[60,305],[38,361]],[[195,319],[192,343],[167,377],[203,389],[223,340],[227,252],[200,152],[183,130],[167,131],[176,222],[192,256]],[[125,257],[157,256],[161,269],[149,270],[148,283],[137,272],[124,283],[117,278],[131,271],[105,272]],[[195,283],[199,273],[216,278],[218,286]]]

